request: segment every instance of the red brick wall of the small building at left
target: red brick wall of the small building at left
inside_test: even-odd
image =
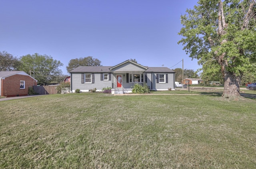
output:
[[[24,89],[20,89],[20,81],[25,81]],[[28,87],[33,86],[33,83],[37,85],[36,81],[33,81],[34,79],[26,75],[12,75],[6,77],[2,81],[2,95],[6,97],[26,96],[28,95]]]

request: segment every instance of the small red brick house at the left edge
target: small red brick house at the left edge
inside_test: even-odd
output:
[[[0,71],[0,96],[26,96],[28,87],[36,85],[37,80],[24,71]]]

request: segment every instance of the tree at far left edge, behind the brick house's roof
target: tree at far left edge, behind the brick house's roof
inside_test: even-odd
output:
[[[6,51],[0,51],[0,71],[18,71],[20,61]]]

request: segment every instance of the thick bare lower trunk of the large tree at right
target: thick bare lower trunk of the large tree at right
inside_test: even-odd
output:
[[[237,77],[234,73],[224,71],[224,90],[222,98],[239,98],[240,97],[240,81],[241,77]]]

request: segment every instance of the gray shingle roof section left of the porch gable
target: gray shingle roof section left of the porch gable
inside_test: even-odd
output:
[[[81,72],[90,72],[90,73],[110,73],[109,68],[111,68],[112,66],[79,66],[75,69],[73,69],[72,71],[70,71],[70,73],[81,73]]]

